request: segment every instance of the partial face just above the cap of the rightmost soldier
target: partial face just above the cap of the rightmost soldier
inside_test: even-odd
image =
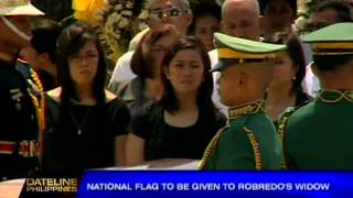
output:
[[[321,12],[314,12],[311,14],[308,29],[310,29],[310,31],[315,31],[336,22],[338,13],[333,9],[325,9]]]

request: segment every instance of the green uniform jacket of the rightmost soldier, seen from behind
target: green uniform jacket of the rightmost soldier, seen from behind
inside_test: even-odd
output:
[[[288,169],[353,169],[353,91],[321,90],[284,133]]]

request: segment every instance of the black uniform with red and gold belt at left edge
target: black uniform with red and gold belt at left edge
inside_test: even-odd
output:
[[[26,80],[0,61],[0,182],[26,177],[39,166],[39,122]]]

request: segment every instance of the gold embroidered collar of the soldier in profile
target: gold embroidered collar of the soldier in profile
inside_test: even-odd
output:
[[[228,110],[229,119],[236,119],[246,114],[255,114],[257,112],[265,112],[265,101],[257,100],[254,102],[244,103],[240,106],[231,107]]]

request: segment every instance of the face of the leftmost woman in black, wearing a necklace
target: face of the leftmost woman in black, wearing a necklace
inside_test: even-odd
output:
[[[68,57],[71,78],[77,85],[92,84],[98,68],[99,54],[93,41],[87,42],[77,54]]]

